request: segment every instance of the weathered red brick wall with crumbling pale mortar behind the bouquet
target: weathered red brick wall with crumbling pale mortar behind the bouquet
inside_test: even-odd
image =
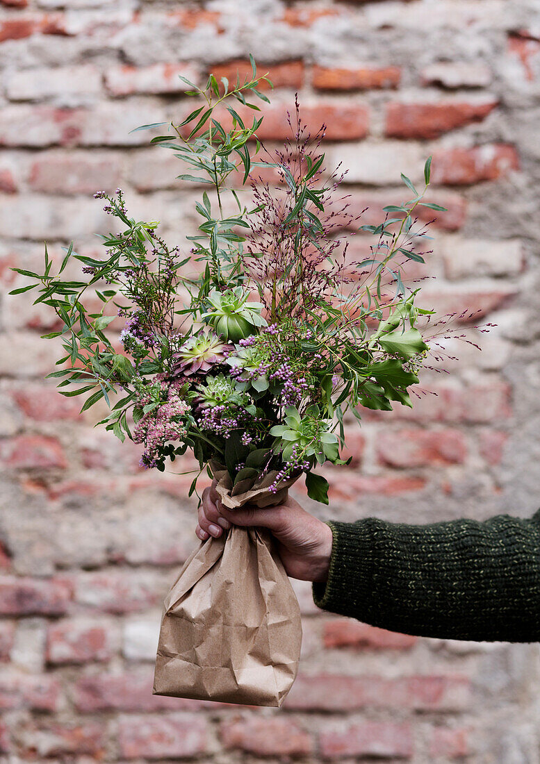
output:
[[[0,282],[71,238],[96,251],[97,189],[125,189],[169,241],[194,192],[145,122],[189,108],[177,73],[252,52],[276,89],[270,144],[295,90],[328,124],[365,222],[434,155],[423,300],[496,323],[451,346],[412,411],[366,414],[321,517],[425,522],[538,507],[540,8],[535,0],[0,0]],[[361,251],[357,238],[352,247]],[[161,599],[196,543],[190,476],[138,469],[138,448],[45,384],[50,313],[0,306],[1,762],[538,762],[536,646],[386,633],[304,611],[298,681],[280,711],[151,697]],[[187,468],[187,462],[182,465]],[[181,471],[181,469],[177,469]],[[304,497],[298,494],[301,500]]]

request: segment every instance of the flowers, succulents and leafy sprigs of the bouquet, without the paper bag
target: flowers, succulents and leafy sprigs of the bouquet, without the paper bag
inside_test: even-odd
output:
[[[285,151],[252,160],[250,150],[262,154],[262,116],[246,126],[246,112],[259,112],[249,96],[268,101],[258,84],[255,66],[236,86],[213,76],[204,90],[190,84],[203,106],[171,125],[172,136],[151,139],[194,173],[179,178],[207,188],[187,257],[158,235],[157,222],[128,217],[120,189],[96,193],[122,227],[101,236],[106,257],[76,254],[72,244],[53,274],[46,248],[43,274],[15,269],[36,281],[14,293],[40,287],[35,303],[51,306],[61,322],[46,336],[62,336],[65,351],[49,376],[60,378],[63,395],[88,393],[83,410],[106,400],[111,410],[100,423],[141,443],[142,465],[163,471],[190,448],[200,471],[226,471],[233,497],[263,480],[275,494],[305,474],[309,496],[327,503],[327,481],[314,469],[344,464],[346,410],[359,419],[362,407],[412,405],[408,387],[428,351],[417,325],[426,311],[415,306],[418,289],[405,288],[401,268],[423,262],[416,208],[443,208],[402,176],[413,198],[386,207],[380,225],[360,227],[376,244],[351,262],[337,232],[356,218],[339,197],[343,175],[324,173],[324,128],[309,136],[297,104]],[[253,181],[246,206],[227,181],[240,171],[246,183],[262,165],[280,185]],[[429,176],[430,160],[426,187]],[[83,264],[86,280],[63,280],[70,259]],[[126,319],[121,348],[107,332],[117,316]]]

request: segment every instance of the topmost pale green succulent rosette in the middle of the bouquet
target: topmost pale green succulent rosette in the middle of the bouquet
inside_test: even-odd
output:
[[[214,290],[207,299],[210,310],[203,314],[203,319],[227,340],[238,342],[254,334],[258,326],[267,325],[261,316],[261,303],[248,303],[248,295],[241,286],[225,292]]]

